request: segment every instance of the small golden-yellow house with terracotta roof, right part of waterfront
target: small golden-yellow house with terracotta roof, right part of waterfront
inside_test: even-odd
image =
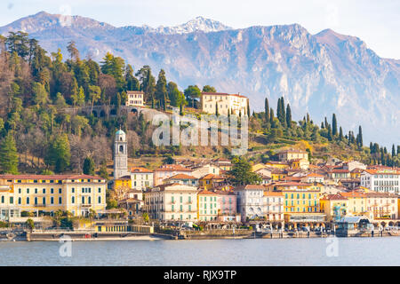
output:
[[[319,203],[321,212],[325,214],[325,221],[331,222],[347,215],[348,198],[340,193],[324,195]]]

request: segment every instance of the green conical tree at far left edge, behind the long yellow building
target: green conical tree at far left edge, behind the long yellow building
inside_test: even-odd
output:
[[[0,145],[0,169],[3,173],[18,174],[18,154],[15,140],[10,133]]]

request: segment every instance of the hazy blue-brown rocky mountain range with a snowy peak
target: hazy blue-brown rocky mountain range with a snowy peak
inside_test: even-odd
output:
[[[229,28],[197,17],[176,27],[120,27],[80,16],[38,12],[0,28],[23,30],[47,51],[74,40],[82,56],[101,61],[107,51],[135,69],[149,65],[184,89],[209,84],[250,98],[262,110],[284,96],[293,119],[316,123],[335,113],[345,131],[363,127],[364,143],[400,144],[400,60],[380,58],[356,36],[299,24]]]

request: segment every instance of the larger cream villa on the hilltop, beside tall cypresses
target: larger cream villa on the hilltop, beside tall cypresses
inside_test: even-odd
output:
[[[215,114],[218,106],[218,114],[242,114],[247,115],[249,99],[239,94],[222,92],[202,92],[201,105],[204,113]]]

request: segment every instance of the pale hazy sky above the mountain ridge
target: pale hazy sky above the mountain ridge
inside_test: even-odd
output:
[[[116,27],[174,26],[196,16],[232,28],[298,23],[311,34],[332,28],[357,36],[380,57],[400,59],[399,0],[2,0],[0,26],[40,11]]]

